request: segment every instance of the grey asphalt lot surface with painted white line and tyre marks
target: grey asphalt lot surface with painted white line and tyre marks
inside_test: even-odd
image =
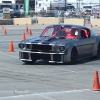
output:
[[[46,25],[29,25],[32,36],[38,37]],[[18,43],[25,25],[0,26],[0,100],[100,100],[100,91],[93,91],[94,72],[100,75],[100,59],[87,58],[75,65],[37,61],[28,65],[19,60]],[[88,26],[90,27],[90,26]],[[96,34],[100,27],[92,27]],[[14,51],[8,52],[13,41]]]

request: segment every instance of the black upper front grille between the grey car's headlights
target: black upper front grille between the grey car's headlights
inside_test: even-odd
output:
[[[32,51],[51,51],[51,45],[32,44]]]

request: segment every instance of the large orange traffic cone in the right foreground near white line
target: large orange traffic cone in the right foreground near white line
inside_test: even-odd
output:
[[[94,73],[94,83],[93,83],[92,90],[95,90],[95,91],[100,90],[98,71],[95,71]]]

